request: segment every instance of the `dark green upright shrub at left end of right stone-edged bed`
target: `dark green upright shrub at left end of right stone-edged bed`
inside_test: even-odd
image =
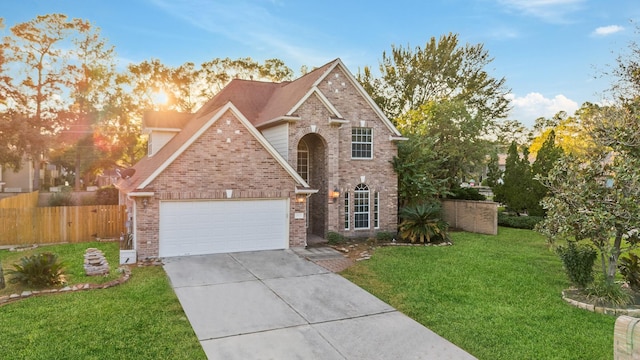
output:
[[[593,264],[598,253],[586,244],[569,241],[567,246],[558,246],[556,253],[560,256],[569,280],[579,288],[586,288],[593,282]]]

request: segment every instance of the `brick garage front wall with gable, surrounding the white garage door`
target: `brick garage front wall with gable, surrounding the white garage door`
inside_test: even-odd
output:
[[[158,256],[161,201],[226,199],[226,189],[233,189],[234,199],[290,199],[289,246],[304,246],[305,220],[294,216],[304,212],[305,204],[296,202],[295,184],[228,111],[145,189],[139,190],[153,192],[154,196],[148,199],[146,208],[142,199],[136,199],[138,259]]]

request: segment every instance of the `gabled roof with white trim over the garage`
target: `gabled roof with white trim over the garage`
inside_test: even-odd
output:
[[[176,134],[176,136],[156,154],[152,157],[147,156],[134,165],[133,169],[135,173],[133,176],[128,179],[121,179],[117,187],[127,193],[144,189],[227,111],[231,111],[234,114],[247,131],[258,140],[258,143],[273,156],[298,185],[309,188],[309,184],[282,158],[273,146],[269,144],[262,134],[251,125],[249,120],[231,102],[224,104],[220,108],[211,109],[211,111],[204,113],[198,112],[193,119],[185,125],[182,131]]]

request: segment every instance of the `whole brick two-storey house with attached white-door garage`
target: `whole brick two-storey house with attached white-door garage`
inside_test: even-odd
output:
[[[148,113],[117,186],[139,259],[306,245],[397,229],[398,130],[340,59],[233,80],[195,114]]]

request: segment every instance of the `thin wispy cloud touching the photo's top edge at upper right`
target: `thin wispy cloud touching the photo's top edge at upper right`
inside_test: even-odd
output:
[[[498,0],[510,10],[534,16],[548,22],[567,22],[569,13],[578,11],[586,0]]]

